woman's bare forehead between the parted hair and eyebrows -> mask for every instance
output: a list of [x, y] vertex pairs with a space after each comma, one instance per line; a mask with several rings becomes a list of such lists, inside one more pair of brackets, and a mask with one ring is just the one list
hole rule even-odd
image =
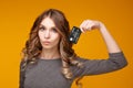
[[55, 26], [53, 20], [51, 18], [44, 18], [41, 23], [41, 25], [44, 25], [44, 26]]

